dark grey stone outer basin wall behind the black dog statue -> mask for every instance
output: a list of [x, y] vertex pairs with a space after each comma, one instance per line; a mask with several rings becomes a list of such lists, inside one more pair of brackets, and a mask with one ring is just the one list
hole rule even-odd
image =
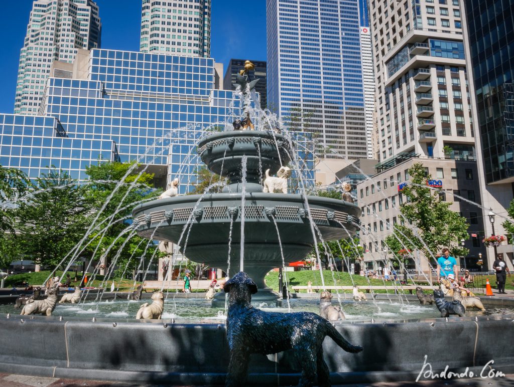
[[[511, 299], [482, 300], [486, 308], [500, 303], [514, 307]], [[21, 317], [28, 318], [22, 322]], [[513, 318], [504, 314], [453, 317], [448, 322], [442, 318], [337, 322], [337, 330], [364, 350], [348, 354], [326, 338], [324, 357], [334, 384], [415, 380], [425, 355], [434, 373], [448, 365], [451, 371], [469, 367], [479, 375], [494, 360], [492, 367], [508, 374], [514, 372]], [[0, 315], [0, 321], [0, 372], [132, 383], [224, 384], [229, 355], [223, 322], [59, 321], [57, 316], [13, 315]], [[458, 342], [459, 351], [447, 351], [448, 342]], [[300, 377], [290, 352], [252, 355], [248, 372], [249, 385], [294, 385]]]

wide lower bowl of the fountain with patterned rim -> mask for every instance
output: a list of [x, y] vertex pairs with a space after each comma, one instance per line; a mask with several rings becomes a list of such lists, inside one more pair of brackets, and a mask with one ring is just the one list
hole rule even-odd
[[[138, 235], [178, 244], [192, 261], [219, 268], [227, 267], [231, 235], [230, 272], [234, 273], [240, 269], [241, 193], [209, 194], [198, 201], [200, 197], [177, 196], [139, 205], [133, 210]], [[282, 260], [298, 261], [321, 240], [353, 236], [360, 208], [318, 196], [252, 192], [246, 193], [244, 212], [247, 270], [252, 265], [272, 268], [282, 266]]]

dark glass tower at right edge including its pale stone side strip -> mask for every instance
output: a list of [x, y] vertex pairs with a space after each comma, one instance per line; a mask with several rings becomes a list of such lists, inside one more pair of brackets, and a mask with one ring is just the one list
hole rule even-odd
[[[489, 222], [489, 211], [505, 214], [512, 200], [514, 182], [514, 1], [465, 3], [466, 59], [473, 81], [471, 101], [476, 103], [474, 120], [480, 136], [479, 176], [484, 197], [483, 216], [487, 236], [504, 235], [503, 219]], [[465, 26], [466, 28], [466, 26]], [[471, 77], [471, 72], [470, 72]], [[473, 103], [474, 105], [474, 103]], [[494, 220], [494, 217], [492, 217]], [[493, 233], [494, 230], [494, 233]], [[510, 239], [510, 238], [509, 238]], [[512, 243], [512, 242], [511, 242]], [[501, 245], [512, 270], [512, 245]], [[493, 249], [489, 249], [493, 254]], [[491, 258], [489, 261], [491, 261]]]

